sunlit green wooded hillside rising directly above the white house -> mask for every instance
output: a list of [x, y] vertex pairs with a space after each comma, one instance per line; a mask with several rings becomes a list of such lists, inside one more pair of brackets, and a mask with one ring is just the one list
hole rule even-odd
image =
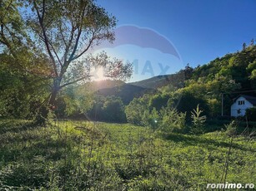
[[240, 84], [239, 90], [252, 90], [256, 86], [256, 46], [216, 58], [193, 70], [192, 81], [213, 81], [223, 76]]

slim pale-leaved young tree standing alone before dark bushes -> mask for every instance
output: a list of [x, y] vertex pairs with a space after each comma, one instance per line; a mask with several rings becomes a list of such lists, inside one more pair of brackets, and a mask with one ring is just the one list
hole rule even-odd
[[199, 105], [197, 105], [196, 110], [191, 111], [191, 119], [192, 119], [192, 127], [191, 133], [199, 134], [203, 132], [203, 126], [206, 121], [206, 116], [202, 115], [203, 110], [199, 109]]

